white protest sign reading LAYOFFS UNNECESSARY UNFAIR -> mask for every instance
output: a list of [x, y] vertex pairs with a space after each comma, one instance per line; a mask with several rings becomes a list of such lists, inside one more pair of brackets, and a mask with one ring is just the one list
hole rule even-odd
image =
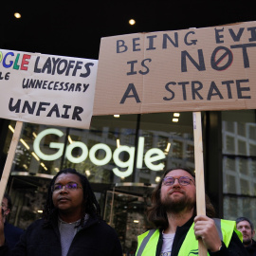
[[98, 61], [0, 49], [0, 117], [89, 128]]

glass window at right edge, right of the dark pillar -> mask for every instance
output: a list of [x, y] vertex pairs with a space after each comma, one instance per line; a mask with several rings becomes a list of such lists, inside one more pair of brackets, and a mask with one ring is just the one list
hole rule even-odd
[[254, 110], [222, 112], [223, 203], [226, 219], [247, 216], [256, 223], [255, 131]]

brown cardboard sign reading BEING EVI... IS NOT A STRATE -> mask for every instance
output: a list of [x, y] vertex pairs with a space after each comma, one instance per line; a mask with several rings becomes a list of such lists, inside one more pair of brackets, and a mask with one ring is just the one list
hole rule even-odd
[[101, 39], [93, 115], [256, 108], [256, 22]]

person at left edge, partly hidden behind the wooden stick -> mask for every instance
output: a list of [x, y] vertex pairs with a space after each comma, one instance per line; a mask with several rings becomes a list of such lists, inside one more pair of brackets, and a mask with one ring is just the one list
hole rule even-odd
[[13, 248], [20, 240], [20, 236], [22, 235], [24, 230], [14, 227], [13, 225], [9, 224], [9, 222], [7, 221], [7, 217], [12, 208], [11, 199], [7, 193], [4, 194], [1, 207], [2, 207], [3, 221], [5, 225], [5, 237], [9, 247]]

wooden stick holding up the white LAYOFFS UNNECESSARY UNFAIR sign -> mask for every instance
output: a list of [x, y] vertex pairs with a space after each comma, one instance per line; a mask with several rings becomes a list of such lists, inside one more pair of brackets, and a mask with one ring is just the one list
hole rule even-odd
[[0, 202], [2, 202], [3, 197], [4, 197], [4, 193], [6, 191], [6, 187], [7, 187], [7, 183], [8, 183], [8, 179], [9, 179], [9, 173], [10, 173], [12, 161], [13, 161], [13, 158], [14, 158], [14, 155], [15, 155], [15, 151], [16, 151], [16, 148], [17, 148], [17, 144], [19, 142], [19, 138], [20, 138], [20, 135], [21, 135], [22, 126], [23, 126], [22, 121], [17, 121], [16, 122], [14, 134], [12, 136], [10, 146], [9, 146], [8, 157], [7, 157], [5, 168], [4, 168], [2, 178], [1, 178], [1, 181], [0, 181]]

